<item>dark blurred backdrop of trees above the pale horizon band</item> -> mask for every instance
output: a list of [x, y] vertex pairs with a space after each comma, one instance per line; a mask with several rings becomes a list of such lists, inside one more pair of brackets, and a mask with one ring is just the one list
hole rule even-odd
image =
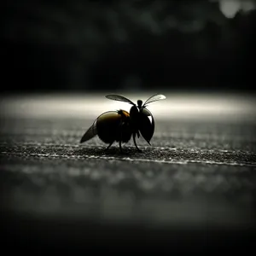
[[218, 1], [14, 1], [2, 90], [252, 90], [256, 12]]

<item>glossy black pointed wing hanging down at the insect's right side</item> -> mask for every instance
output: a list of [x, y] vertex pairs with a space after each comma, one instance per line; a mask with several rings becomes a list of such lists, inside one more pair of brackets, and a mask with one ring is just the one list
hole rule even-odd
[[150, 145], [150, 140], [154, 134], [154, 117], [147, 108], [143, 108], [140, 112], [138, 129], [143, 138]]

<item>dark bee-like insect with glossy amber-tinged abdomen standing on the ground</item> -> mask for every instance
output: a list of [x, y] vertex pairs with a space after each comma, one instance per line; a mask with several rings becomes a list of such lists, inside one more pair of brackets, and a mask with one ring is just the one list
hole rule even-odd
[[122, 152], [121, 143], [128, 143], [132, 136], [137, 151], [142, 152], [136, 143], [136, 136], [139, 138], [141, 134], [145, 141], [151, 145], [150, 140], [154, 135], [154, 117], [146, 107], [151, 102], [166, 99], [166, 96], [155, 94], [150, 96], [144, 104], [142, 100], [137, 100], [137, 105], [125, 96], [113, 94], [107, 95], [106, 98], [131, 104], [130, 112], [119, 109], [102, 113], [84, 133], [80, 143], [84, 143], [98, 135], [103, 143], [108, 143], [106, 149], [110, 148], [116, 141], [119, 143], [119, 148]]

